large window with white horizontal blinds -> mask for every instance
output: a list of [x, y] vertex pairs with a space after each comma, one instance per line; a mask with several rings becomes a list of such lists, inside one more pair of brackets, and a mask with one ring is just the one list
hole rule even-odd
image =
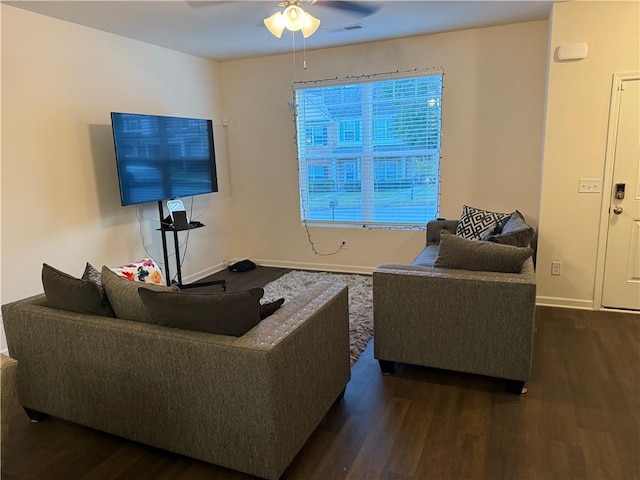
[[304, 222], [423, 227], [436, 218], [441, 72], [294, 90]]

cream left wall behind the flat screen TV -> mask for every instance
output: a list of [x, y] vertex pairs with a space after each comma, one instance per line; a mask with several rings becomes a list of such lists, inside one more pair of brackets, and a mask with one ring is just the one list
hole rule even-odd
[[220, 266], [231, 234], [218, 64], [0, 8], [2, 303], [42, 292], [43, 262], [80, 275], [87, 261], [162, 261], [157, 205], [120, 205], [111, 111], [214, 120], [221, 191], [195, 197], [207, 228], [191, 233], [184, 274]]

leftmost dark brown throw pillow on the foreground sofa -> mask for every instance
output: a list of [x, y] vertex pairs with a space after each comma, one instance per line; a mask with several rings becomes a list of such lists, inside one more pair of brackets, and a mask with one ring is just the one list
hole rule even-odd
[[51, 308], [89, 315], [114, 316], [102, 290], [92, 281], [75, 278], [44, 263], [42, 286], [47, 304]]

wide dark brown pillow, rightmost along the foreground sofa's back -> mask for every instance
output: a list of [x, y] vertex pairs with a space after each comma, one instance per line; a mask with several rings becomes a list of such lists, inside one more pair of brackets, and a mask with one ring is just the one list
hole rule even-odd
[[240, 337], [260, 321], [264, 289], [229, 293], [138, 292], [153, 323]]

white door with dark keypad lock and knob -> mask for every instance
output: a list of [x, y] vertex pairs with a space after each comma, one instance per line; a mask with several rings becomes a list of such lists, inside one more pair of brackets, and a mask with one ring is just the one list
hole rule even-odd
[[602, 306], [640, 310], [640, 79], [619, 95]]

